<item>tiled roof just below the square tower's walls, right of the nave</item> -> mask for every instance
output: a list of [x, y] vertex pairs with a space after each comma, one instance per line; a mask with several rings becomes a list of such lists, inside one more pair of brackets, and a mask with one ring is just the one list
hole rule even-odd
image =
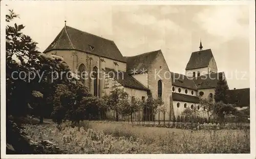
[[222, 75], [225, 76], [224, 72], [206, 74], [194, 77], [193, 81], [197, 85], [198, 89], [216, 88]]

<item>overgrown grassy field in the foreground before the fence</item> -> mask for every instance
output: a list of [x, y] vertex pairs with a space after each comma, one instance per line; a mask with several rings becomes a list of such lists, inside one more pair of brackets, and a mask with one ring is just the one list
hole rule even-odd
[[34, 141], [49, 140], [69, 153], [250, 153], [249, 130], [182, 130], [127, 123], [24, 125]]

